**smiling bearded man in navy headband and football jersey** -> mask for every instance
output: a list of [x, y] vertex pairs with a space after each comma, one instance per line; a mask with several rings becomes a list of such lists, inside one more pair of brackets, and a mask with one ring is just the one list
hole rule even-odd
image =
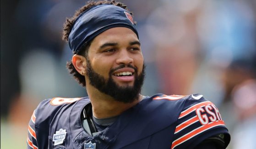
[[68, 19], [70, 73], [85, 98], [46, 99], [28, 127], [28, 149], [224, 149], [230, 136], [202, 95], [140, 94], [144, 62], [126, 6], [90, 2]]

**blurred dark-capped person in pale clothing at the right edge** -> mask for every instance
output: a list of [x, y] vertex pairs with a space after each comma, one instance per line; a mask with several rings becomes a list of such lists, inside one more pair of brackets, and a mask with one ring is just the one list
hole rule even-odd
[[[256, 57], [233, 61], [223, 77], [225, 100], [221, 108], [232, 149], [256, 148]], [[243, 136], [241, 138], [241, 136]]]

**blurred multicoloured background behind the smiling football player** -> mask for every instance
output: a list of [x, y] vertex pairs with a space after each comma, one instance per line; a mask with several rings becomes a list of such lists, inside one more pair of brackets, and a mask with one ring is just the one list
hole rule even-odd
[[[219, 108], [228, 149], [256, 149], [256, 0], [121, 0], [135, 14], [146, 81], [142, 93], [201, 93]], [[66, 17], [85, 0], [1, 0], [1, 149], [25, 149], [45, 98], [83, 97], [65, 69]]]

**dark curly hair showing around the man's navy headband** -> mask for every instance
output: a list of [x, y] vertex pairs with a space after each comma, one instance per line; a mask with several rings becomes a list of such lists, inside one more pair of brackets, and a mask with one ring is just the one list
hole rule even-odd
[[[63, 26], [63, 36], [62, 36], [62, 39], [66, 42], [68, 42], [68, 36], [71, 32], [71, 29], [72, 29], [72, 26], [74, 24], [74, 21], [76, 20], [76, 18], [82, 14], [85, 10], [88, 10], [89, 8], [95, 6], [95, 5], [101, 5], [101, 4], [111, 4], [111, 5], [115, 5], [115, 6], [119, 6], [127, 11], [128, 8], [126, 7], [126, 5], [120, 3], [120, 2], [115, 2], [115, 0], [112, 0], [112, 1], [108, 1], [108, 0], [101, 0], [101, 1], [89, 1], [87, 3], [87, 5], [84, 5], [82, 6], [79, 10], [76, 10], [76, 13], [73, 17], [71, 18], [67, 18], [65, 23], [64, 23], [64, 26]], [[130, 12], [130, 11], [129, 11]], [[131, 15], [133, 15], [131, 12], [130, 12]], [[92, 40], [93, 41], [93, 40]], [[87, 53], [88, 53], [88, 49], [91, 45], [91, 42], [88, 42], [87, 44], [84, 44], [80, 50], [80, 52], [78, 53], [73, 53], [73, 54], [78, 54], [78, 55], [81, 55], [81, 56], [84, 56], [87, 58]], [[67, 62], [66, 63], [66, 68], [68, 69], [68, 72], [76, 79], [76, 81], [81, 84], [83, 87], [86, 86], [86, 83], [85, 83], [85, 77], [82, 76], [79, 72], [76, 71], [72, 61], [70, 62]]]

